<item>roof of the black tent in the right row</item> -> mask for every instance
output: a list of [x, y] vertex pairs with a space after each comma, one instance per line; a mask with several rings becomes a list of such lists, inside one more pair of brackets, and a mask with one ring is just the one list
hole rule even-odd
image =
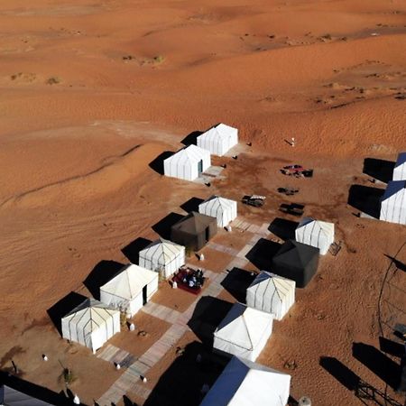
[[319, 252], [320, 250], [315, 246], [288, 240], [281, 246], [273, 257], [273, 260], [278, 263], [286, 263], [287, 265], [294, 266], [299, 265], [305, 268], [314, 256], [318, 256]]

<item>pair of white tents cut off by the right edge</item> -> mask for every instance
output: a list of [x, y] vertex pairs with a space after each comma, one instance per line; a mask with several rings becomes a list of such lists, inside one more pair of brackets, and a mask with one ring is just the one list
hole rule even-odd
[[406, 152], [401, 152], [381, 199], [379, 219], [406, 225]]

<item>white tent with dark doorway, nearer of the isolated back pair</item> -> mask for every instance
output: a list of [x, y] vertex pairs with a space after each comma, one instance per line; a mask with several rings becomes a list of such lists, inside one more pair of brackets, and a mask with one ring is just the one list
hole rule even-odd
[[210, 165], [210, 152], [189, 145], [163, 161], [163, 173], [171, 178], [195, 180]]

